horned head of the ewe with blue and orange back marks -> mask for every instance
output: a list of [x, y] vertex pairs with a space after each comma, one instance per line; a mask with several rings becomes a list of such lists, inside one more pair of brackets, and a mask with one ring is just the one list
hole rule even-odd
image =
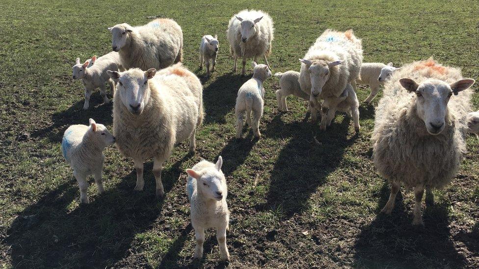
[[[342, 64], [344, 61], [334, 61], [328, 62], [326, 60], [307, 60], [307, 59], [299, 59], [301, 63], [305, 65], [306, 72], [309, 73], [311, 78], [311, 95], [313, 97], [318, 97], [322, 92], [322, 87], [329, 79], [331, 75], [331, 70], [337, 66]], [[301, 65], [301, 70], [303, 70], [303, 66]]]

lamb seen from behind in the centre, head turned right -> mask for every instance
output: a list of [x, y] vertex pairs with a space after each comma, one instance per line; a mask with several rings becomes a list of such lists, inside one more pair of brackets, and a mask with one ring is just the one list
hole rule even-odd
[[[267, 65], [259, 65], [256, 62], [252, 62], [251, 64], [253, 66], [253, 77], [239, 88], [238, 97], [236, 98], [236, 138], [241, 137], [245, 111], [246, 123], [252, 127], [255, 137], [261, 137], [259, 125], [260, 119], [263, 116], [265, 102], [263, 82], [265, 82], [268, 77], [271, 77], [272, 73]], [[251, 112], [253, 112], [253, 122], [251, 122]]]

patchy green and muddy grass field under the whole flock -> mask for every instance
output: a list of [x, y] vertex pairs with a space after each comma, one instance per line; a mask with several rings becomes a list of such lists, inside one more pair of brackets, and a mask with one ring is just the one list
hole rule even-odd
[[[230, 73], [225, 31], [244, 8], [267, 11], [275, 24], [273, 72], [299, 70], [298, 58], [326, 28], [353, 28], [365, 62], [402, 65], [434, 56], [479, 78], [475, 1], [93, 1], [2, 0], [0, 9], [0, 266], [3, 268], [223, 267], [212, 231], [205, 258], [195, 245], [185, 193], [186, 168], [223, 156], [231, 210], [227, 245], [231, 268], [479, 268], [479, 143], [452, 184], [423, 206], [424, 228], [411, 225], [413, 199], [402, 190], [392, 216], [380, 209], [389, 186], [371, 160], [374, 105], [361, 104], [361, 133], [338, 115], [319, 131], [304, 101], [290, 97], [289, 113], [276, 109], [276, 78], [266, 84], [260, 130], [234, 139], [234, 103], [248, 79]], [[105, 151], [106, 194], [79, 204], [79, 189], [60, 141], [71, 124], [88, 118], [111, 130], [111, 104], [98, 91], [83, 111], [83, 89], [71, 78], [75, 58], [111, 47], [106, 27], [145, 24], [151, 16], [176, 20], [184, 33], [184, 63], [204, 82], [206, 118], [197, 152], [187, 143], [163, 169], [164, 200], [155, 199], [152, 162], [145, 191], [133, 192], [133, 161], [115, 147]], [[198, 70], [204, 34], [218, 34], [217, 71]], [[251, 75], [250, 71], [247, 73]], [[474, 90], [478, 85], [473, 86]], [[364, 100], [369, 89], [362, 86]], [[479, 108], [478, 95], [473, 99]], [[249, 131], [249, 130], [248, 130]], [[316, 137], [316, 140], [315, 138]]]

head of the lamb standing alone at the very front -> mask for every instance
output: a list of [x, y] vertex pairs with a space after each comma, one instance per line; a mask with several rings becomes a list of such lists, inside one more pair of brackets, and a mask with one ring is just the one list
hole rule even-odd
[[221, 171], [223, 159], [218, 157], [214, 168], [205, 168], [201, 171], [186, 169], [186, 173], [196, 179], [196, 190], [207, 199], [221, 201], [226, 198], [226, 188], [223, 184], [225, 177]]

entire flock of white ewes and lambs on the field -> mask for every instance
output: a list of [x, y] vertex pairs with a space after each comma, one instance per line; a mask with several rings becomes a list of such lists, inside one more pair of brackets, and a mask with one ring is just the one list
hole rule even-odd
[[[204, 117], [203, 86], [194, 73], [181, 65], [183, 33], [176, 22], [157, 19], [141, 26], [117, 24], [108, 29], [113, 52], [99, 58], [94, 56], [84, 63], [77, 58], [73, 78], [83, 82], [84, 109], [89, 107], [95, 88], [100, 88], [108, 103], [105, 85], [109, 83], [114, 100], [113, 135], [92, 119], [89, 126], [72, 125], [63, 136], [63, 155], [79, 183], [82, 203], [88, 202], [89, 174], [94, 175], [98, 192], [104, 192], [103, 150], [112, 144], [125, 157], [133, 159], [137, 191], [144, 187], [143, 162], [154, 158], [156, 195], [162, 197], [161, 169], [174, 146], [189, 138], [189, 150], [195, 150], [195, 132]], [[238, 92], [237, 138], [241, 137], [244, 116], [254, 135], [260, 137], [263, 82], [272, 75], [266, 57], [271, 52], [273, 30], [272, 19], [255, 10], [239, 12], [228, 24], [233, 72], [239, 58], [242, 75], [247, 59], [254, 59], [253, 76]], [[217, 36], [205, 35], [201, 39], [200, 68], [206, 65], [207, 76], [214, 72], [218, 47]], [[257, 64], [258, 57], [263, 57], [266, 64]], [[313, 122], [318, 112], [321, 115], [321, 130], [331, 124], [339, 110], [353, 119], [355, 131], [359, 132], [356, 83], [371, 86], [366, 102], [384, 84], [372, 135], [375, 167], [391, 183], [391, 195], [382, 212], [391, 213], [404, 184], [415, 192], [413, 224], [423, 224], [424, 190], [430, 192], [452, 180], [466, 151], [467, 132], [479, 133], [479, 112], [469, 113], [473, 93], [470, 87], [475, 80], [464, 79], [459, 69], [442, 66], [433, 59], [400, 68], [392, 63], [363, 63], [362, 43], [352, 30], [325, 30], [299, 61], [300, 72], [275, 74], [281, 86], [276, 91], [278, 110], [288, 110], [286, 97], [290, 95], [308, 100]], [[186, 193], [197, 243], [195, 258], [203, 256], [205, 229], [215, 228], [221, 259], [229, 259], [226, 246], [229, 211], [222, 162], [219, 156], [216, 164], [203, 160], [186, 170]]]

